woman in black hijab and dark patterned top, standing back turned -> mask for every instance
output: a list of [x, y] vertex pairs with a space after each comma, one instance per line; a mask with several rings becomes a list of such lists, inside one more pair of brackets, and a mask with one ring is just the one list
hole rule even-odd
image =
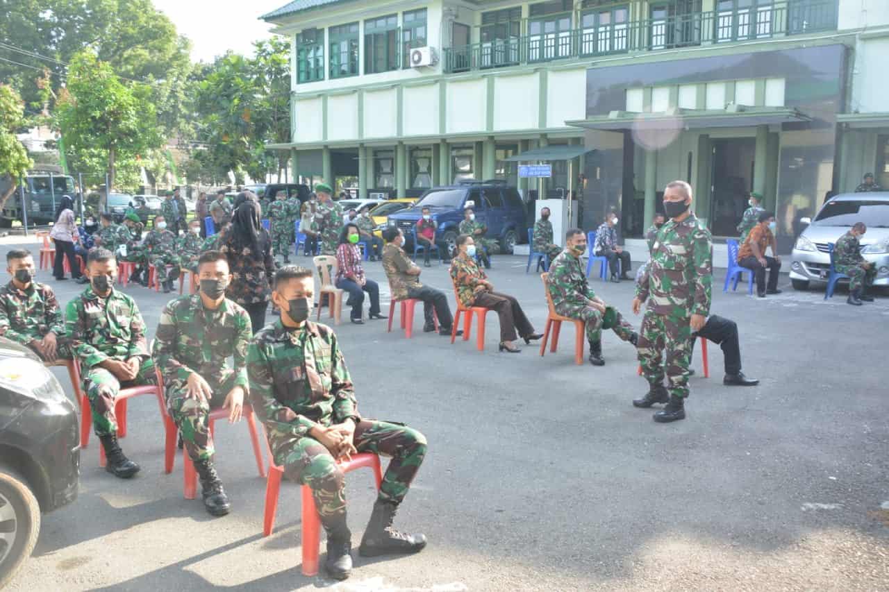
[[275, 274], [271, 240], [260, 224], [259, 204], [242, 200], [231, 225], [220, 233], [219, 250], [225, 253], [231, 269], [226, 297], [244, 307], [256, 333], [266, 324], [270, 280]]

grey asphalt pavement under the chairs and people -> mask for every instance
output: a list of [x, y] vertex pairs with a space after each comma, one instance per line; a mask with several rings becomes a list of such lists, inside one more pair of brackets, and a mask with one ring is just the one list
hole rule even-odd
[[[8, 237], [0, 252], [24, 240]], [[495, 257], [490, 278], [542, 332], [541, 279], [525, 274], [525, 261]], [[388, 314], [380, 263], [366, 271], [380, 282]], [[472, 340], [453, 345], [423, 333], [419, 310], [412, 340], [397, 319], [391, 333], [379, 320], [337, 327], [364, 416], [407, 422], [428, 438], [396, 516], [396, 526], [428, 536], [420, 555], [355, 553], [346, 582], [303, 577], [299, 487], [284, 484], [276, 531], [263, 538], [265, 480], [244, 422], [217, 426], [216, 463], [233, 511], [212, 518], [199, 499], [183, 499], [181, 455], [164, 475], [156, 403], [137, 397], [122, 444], [141, 473], [130, 481], [108, 475], [92, 436], [78, 500], [44, 516], [34, 556], [10, 589], [889, 589], [889, 297], [854, 308], [844, 288], [825, 301], [823, 290], [794, 292], [784, 276], [783, 293], [757, 299], [741, 288], [723, 293], [722, 274], [712, 312], [738, 323], [743, 370], [761, 382], [723, 386], [723, 357], [712, 343], [704, 378], [698, 347], [688, 418], [667, 425], [630, 404], [646, 384], [635, 351], [613, 332], [605, 333], [605, 366], [593, 367], [573, 364], [571, 326], [544, 357], [524, 344], [519, 355], [498, 353], [494, 314], [483, 352], [475, 328]], [[420, 277], [444, 289], [453, 307], [444, 266]], [[80, 289], [47, 271], [38, 280], [62, 303]], [[590, 281], [638, 326], [630, 282]], [[152, 336], [169, 296], [132, 284], [125, 292]], [[70, 390], [64, 369], [58, 376]], [[347, 482], [357, 547], [372, 478], [357, 471]]]

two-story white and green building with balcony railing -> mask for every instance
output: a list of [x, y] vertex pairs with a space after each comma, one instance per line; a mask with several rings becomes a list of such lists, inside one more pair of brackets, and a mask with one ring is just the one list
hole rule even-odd
[[[684, 179], [717, 236], [763, 193], [783, 247], [830, 191], [889, 185], [885, 0], [295, 0], [262, 18], [292, 42], [292, 142], [271, 148], [361, 196], [573, 187], [584, 228], [613, 210], [638, 236]], [[545, 184], [509, 160], [565, 144], [588, 152]]]

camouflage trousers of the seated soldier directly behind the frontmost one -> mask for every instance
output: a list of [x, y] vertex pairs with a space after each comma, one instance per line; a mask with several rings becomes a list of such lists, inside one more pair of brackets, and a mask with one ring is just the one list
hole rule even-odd
[[186, 396], [188, 387], [186, 381], [179, 378], [175, 380], [164, 379], [166, 388], [167, 409], [170, 417], [176, 422], [182, 442], [191, 460], [210, 459], [213, 455], [213, 439], [210, 436], [210, 412], [219, 409], [225, 403], [228, 392], [235, 388], [235, 372], [227, 372], [221, 380], [204, 380], [210, 384], [213, 396], [209, 401], [204, 401]]

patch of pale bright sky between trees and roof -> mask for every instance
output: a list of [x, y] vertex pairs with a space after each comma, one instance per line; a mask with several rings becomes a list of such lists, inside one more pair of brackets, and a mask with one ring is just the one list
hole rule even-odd
[[227, 50], [249, 54], [252, 43], [271, 36], [260, 16], [288, 0], [154, 0], [180, 35], [191, 40], [191, 59], [212, 61]]

